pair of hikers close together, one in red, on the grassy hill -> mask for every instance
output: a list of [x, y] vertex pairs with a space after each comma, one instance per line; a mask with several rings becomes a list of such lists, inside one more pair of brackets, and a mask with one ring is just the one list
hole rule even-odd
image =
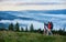
[[53, 23], [44, 23], [44, 34], [52, 35]]

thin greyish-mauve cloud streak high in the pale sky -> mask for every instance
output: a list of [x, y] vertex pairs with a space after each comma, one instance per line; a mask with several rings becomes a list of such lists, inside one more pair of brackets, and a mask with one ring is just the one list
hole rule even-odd
[[56, 2], [44, 2], [44, 3], [15, 3], [15, 6], [46, 6], [46, 4], [65, 4]]

